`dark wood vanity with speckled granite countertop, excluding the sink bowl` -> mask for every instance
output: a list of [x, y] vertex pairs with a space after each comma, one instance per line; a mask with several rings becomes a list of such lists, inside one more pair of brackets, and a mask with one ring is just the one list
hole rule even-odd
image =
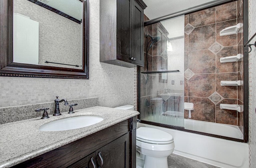
[[[137, 111], [96, 106], [75, 112], [0, 125], [0, 168], [136, 167]], [[81, 115], [97, 115], [104, 120], [73, 130], [39, 130], [51, 121]]]

